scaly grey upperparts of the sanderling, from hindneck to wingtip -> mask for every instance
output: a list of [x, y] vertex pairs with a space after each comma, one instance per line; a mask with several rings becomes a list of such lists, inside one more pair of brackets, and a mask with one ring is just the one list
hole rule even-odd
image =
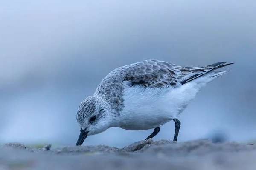
[[99, 84], [94, 94], [105, 96], [107, 100], [118, 98], [122, 101], [124, 83], [129, 86], [141, 85], [145, 88], [178, 87], [210, 71], [230, 65], [224, 65], [225, 63], [218, 62], [202, 67], [181, 67], [159, 60], [145, 60], [111, 71]]

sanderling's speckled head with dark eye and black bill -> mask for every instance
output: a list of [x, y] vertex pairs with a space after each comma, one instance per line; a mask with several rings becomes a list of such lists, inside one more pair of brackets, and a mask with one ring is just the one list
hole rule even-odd
[[102, 133], [115, 123], [114, 109], [99, 96], [89, 96], [80, 104], [76, 120], [80, 126], [79, 139], [76, 145], [82, 145], [90, 135]]

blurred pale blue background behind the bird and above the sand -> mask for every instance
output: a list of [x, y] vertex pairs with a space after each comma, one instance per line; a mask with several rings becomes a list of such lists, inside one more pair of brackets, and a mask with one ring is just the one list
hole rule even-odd
[[[114, 68], [145, 59], [228, 61], [180, 115], [179, 141], [223, 130], [256, 139], [256, 1], [0, 1], [0, 142], [75, 145], [76, 111]], [[84, 145], [125, 147], [153, 130], [111, 128]], [[174, 122], [154, 140], [173, 139]]]

